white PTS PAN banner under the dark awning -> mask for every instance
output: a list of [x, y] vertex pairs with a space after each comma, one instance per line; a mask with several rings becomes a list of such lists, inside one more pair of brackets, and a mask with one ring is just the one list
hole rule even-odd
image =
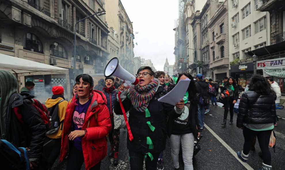
[[257, 61], [257, 69], [284, 68], [285, 58]]

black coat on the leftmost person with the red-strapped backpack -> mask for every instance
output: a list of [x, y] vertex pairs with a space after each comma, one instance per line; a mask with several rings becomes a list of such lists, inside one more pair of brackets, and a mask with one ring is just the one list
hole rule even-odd
[[[37, 109], [27, 98], [28, 93], [14, 93], [7, 109], [7, 139], [17, 147], [31, 149], [29, 158], [40, 158], [45, 140], [46, 127]], [[24, 124], [18, 121], [12, 108], [19, 107]]]

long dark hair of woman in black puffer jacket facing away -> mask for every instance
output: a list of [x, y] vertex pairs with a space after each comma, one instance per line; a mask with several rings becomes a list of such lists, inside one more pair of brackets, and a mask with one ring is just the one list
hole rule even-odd
[[261, 95], [268, 95], [269, 93], [276, 95], [276, 93], [271, 89], [267, 79], [261, 75], [252, 76], [248, 83], [248, 87], [250, 91], [255, 91]]

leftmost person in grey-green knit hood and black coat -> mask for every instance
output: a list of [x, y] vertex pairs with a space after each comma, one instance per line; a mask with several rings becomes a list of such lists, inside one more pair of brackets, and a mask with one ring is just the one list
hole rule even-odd
[[[46, 127], [38, 110], [29, 99], [28, 93], [17, 93], [16, 77], [0, 70], [0, 139], [5, 139], [17, 147], [29, 148], [31, 169], [44, 169], [40, 165], [45, 140]], [[22, 115], [17, 118], [13, 108], [18, 107]]]

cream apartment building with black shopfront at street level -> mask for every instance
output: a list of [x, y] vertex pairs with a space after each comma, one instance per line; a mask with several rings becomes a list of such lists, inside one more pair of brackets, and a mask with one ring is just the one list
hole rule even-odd
[[260, 0], [228, 0], [230, 76], [242, 87], [254, 66], [248, 51], [270, 45], [269, 12], [259, 10]]

